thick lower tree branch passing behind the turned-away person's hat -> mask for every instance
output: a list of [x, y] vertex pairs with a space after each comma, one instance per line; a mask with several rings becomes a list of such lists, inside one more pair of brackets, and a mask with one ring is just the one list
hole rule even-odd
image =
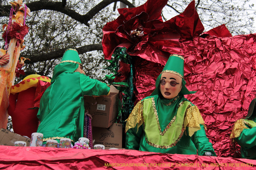
[[[40, 54], [33, 54], [33, 55], [23, 55], [20, 54], [20, 57], [25, 57], [30, 59], [30, 61], [26, 60], [25, 63], [36, 63], [40, 61], [46, 61], [46, 60], [52, 60], [56, 58], [61, 58], [66, 51], [67, 48], [58, 49], [55, 51], [51, 51], [48, 53], [40, 53]], [[83, 47], [75, 48], [78, 51], [78, 54], [84, 54], [89, 51], [94, 50], [103, 50], [101, 44], [91, 44], [91, 45], [85, 45]]]

